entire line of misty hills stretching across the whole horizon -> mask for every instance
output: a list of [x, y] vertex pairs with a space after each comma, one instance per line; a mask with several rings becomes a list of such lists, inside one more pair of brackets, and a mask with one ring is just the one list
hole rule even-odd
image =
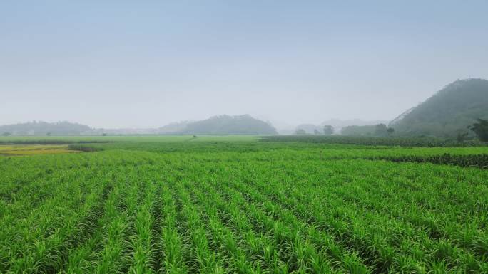
[[[325, 125], [334, 127], [334, 134], [358, 134], [377, 131], [374, 125], [392, 127], [397, 136], [454, 137], [459, 132], [474, 136], [467, 129], [478, 118], [488, 119], [488, 80], [457, 80], [439, 90], [420, 105], [402, 112], [391, 122], [386, 120], [325, 120], [319, 125], [302, 124], [280, 134], [293, 134], [305, 130], [322, 133]], [[382, 126], [385, 127], [385, 126]], [[345, 130], [342, 130], [345, 129]], [[381, 130], [381, 129], [380, 129]], [[386, 129], [384, 129], [386, 130]], [[72, 122], [25, 122], [0, 126], [0, 135], [275, 135], [275, 127], [269, 122], [250, 115], [220, 115], [205, 120], [175, 122], [164, 127], [148, 129], [103, 129], [91, 128]], [[361, 133], [362, 134], [362, 133]]]

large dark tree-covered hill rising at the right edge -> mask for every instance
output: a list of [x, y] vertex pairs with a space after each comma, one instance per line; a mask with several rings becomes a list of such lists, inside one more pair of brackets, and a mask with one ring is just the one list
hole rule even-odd
[[[488, 118], [488, 80], [457, 80], [390, 122], [395, 134], [453, 137]], [[472, 134], [472, 132], [469, 132]]]

